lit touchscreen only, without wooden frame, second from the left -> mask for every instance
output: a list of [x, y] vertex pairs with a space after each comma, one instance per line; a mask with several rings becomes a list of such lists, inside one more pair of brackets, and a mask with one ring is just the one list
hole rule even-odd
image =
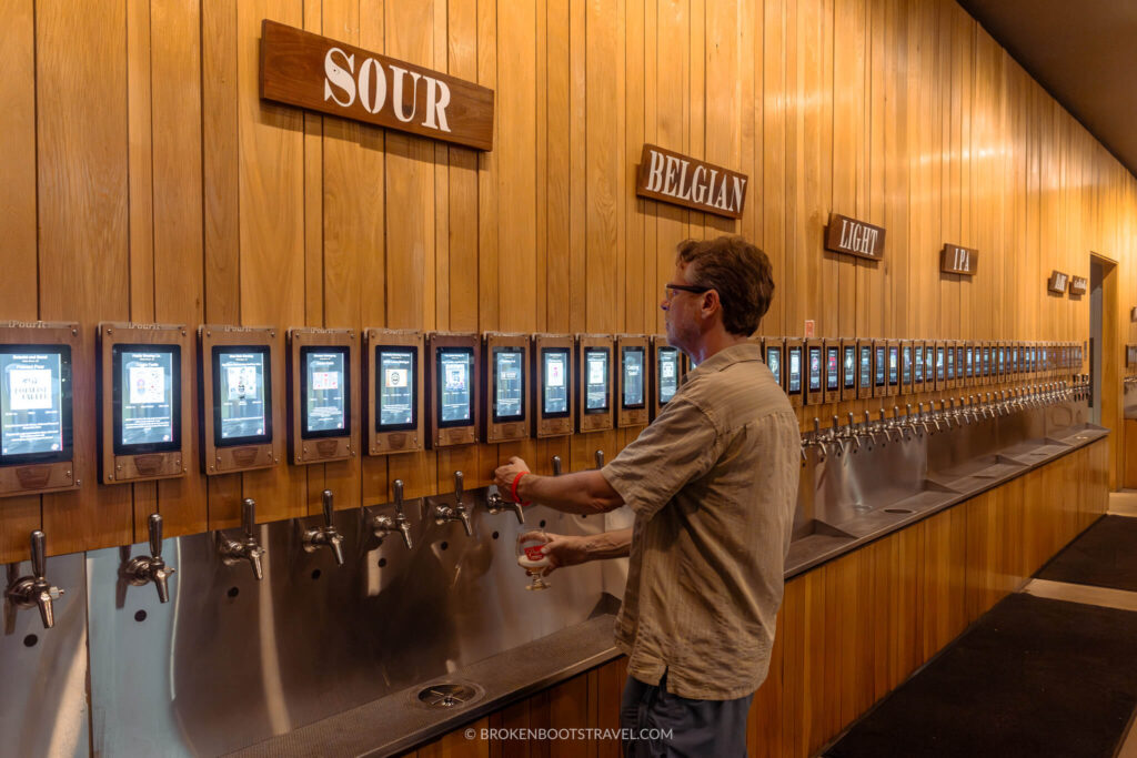
[[181, 347], [111, 348], [114, 440], [117, 455], [181, 447]]

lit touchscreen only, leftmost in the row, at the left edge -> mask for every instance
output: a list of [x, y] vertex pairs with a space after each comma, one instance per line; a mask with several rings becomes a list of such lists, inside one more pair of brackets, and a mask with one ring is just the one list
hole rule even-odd
[[0, 461], [68, 460], [70, 348], [0, 347]]

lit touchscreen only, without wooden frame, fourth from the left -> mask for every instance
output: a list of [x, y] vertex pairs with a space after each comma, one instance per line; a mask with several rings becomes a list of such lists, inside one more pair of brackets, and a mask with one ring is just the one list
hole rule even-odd
[[300, 436], [351, 433], [347, 348], [300, 348]]

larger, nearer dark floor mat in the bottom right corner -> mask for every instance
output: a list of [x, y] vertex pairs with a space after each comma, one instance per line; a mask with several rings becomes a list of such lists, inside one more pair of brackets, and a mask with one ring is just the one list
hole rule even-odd
[[1110, 758], [1137, 706], [1137, 613], [1005, 598], [824, 755]]

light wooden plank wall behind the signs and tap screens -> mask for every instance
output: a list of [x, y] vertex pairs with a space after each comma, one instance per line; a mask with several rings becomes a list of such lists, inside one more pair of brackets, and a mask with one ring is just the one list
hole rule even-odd
[[[823, 336], [1080, 340], [1088, 298], [1043, 280], [1087, 274], [1093, 251], [1117, 264], [1103, 405], [1119, 427], [1137, 181], [951, 0], [99, 0], [82, 20], [6, 0], [0, 18], [0, 318], [78, 319], [89, 347], [110, 318], [658, 333], [674, 244], [740, 232], [773, 266], [764, 334], [812, 319]], [[263, 18], [492, 88], [495, 150], [262, 102]], [[748, 173], [742, 219], [637, 198], [645, 141]], [[821, 250], [835, 210], [886, 226], [883, 261]], [[945, 241], [979, 248], [974, 278], [939, 274]], [[459, 468], [484, 483], [509, 455], [579, 469], [634, 434], [209, 481], [193, 460], [184, 481], [128, 488], [88, 466], [42, 518], [39, 498], [3, 503], [0, 559], [40, 524], [53, 552], [102, 547], [156, 508], [171, 534], [235, 524], [244, 495], [285, 518], [325, 486], [349, 508], [393, 478], [415, 495]], [[905, 551], [948, 539], [926, 538]]]

